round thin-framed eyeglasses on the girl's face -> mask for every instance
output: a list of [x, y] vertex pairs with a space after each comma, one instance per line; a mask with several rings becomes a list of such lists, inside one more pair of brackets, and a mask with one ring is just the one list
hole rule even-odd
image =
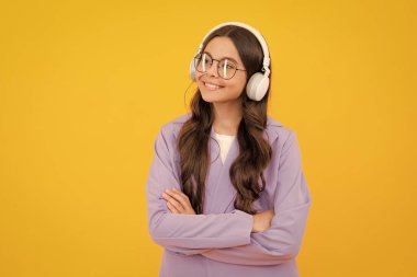
[[223, 58], [221, 60], [213, 59], [212, 56], [210, 56], [208, 53], [202, 53], [198, 54], [194, 57], [194, 67], [196, 71], [199, 72], [207, 72], [207, 70], [212, 67], [213, 60], [216, 60], [218, 62], [217, 65], [217, 73], [223, 79], [232, 79], [237, 70], [246, 71], [245, 69], [237, 68], [237, 65], [235, 61], [233, 61], [229, 58]]

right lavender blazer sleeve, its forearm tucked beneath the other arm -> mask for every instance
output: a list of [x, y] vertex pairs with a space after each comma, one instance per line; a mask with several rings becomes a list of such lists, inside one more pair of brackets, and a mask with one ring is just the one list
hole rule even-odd
[[298, 142], [292, 131], [282, 148], [271, 227], [250, 234], [250, 243], [214, 249], [202, 255], [240, 265], [277, 265], [294, 258], [301, 249], [312, 204], [305, 181]]

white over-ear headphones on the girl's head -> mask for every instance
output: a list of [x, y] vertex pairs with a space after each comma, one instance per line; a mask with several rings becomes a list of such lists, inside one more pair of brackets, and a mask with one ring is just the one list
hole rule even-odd
[[[249, 26], [248, 24], [240, 23], [240, 22], [222, 23], [222, 24], [215, 26], [214, 28], [212, 28], [204, 36], [203, 42], [200, 44], [200, 47], [199, 47], [196, 54], [194, 55], [194, 57], [203, 50], [203, 43], [207, 38], [207, 36], [211, 33], [213, 33], [214, 31], [216, 31], [217, 28], [221, 28], [221, 27], [226, 26], [226, 25], [240, 26], [240, 27], [244, 27], [244, 28], [250, 31], [258, 38], [258, 42], [260, 43], [260, 45], [262, 47], [263, 67], [261, 70], [263, 73], [262, 72], [253, 73], [250, 77], [248, 83], [246, 84], [246, 93], [247, 93], [248, 97], [253, 100], [253, 101], [260, 101], [264, 96], [264, 94], [267, 94], [267, 91], [269, 88], [269, 73], [270, 73], [269, 62], [270, 62], [270, 58], [269, 58], [269, 50], [268, 50], [267, 42], [264, 41], [262, 35], [256, 28]], [[190, 79], [192, 81], [195, 81], [194, 57], [191, 59], [191, 62], [190, 62]]]

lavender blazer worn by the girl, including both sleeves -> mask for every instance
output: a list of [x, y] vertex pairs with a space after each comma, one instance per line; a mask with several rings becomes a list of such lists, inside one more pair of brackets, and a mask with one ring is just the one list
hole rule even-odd
[[145, 186], [148, 231], [164, 247], [159, 277], [298, 276], [295, 257], [312, 199], [295, 131], [268, 116], [264, 138], [273, 155], [263, 172], [266, 191], [252, 207], [258, 211], [274, 209], [275, 216], [268, 230], [251, 233], [253, 218], [235, 209], [236, 189], [228, 175], [239, 153], [237, 137], [223, 163], [213, 127], [204, 213], [179, 215], [167, 208], [162, 192], [181, 189], [176, 140], [190, 116], [181, 115], [160, 128]]

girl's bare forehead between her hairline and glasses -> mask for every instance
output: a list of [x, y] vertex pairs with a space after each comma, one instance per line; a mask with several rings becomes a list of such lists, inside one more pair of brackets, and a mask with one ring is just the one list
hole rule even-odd
[[225, 57], [235, 59], [238, 64], [243, 64], [236, 46], [232, 39], [226, 36], [216, 36], [205, 46], [204, 51], [208, 53], [215, 59]]

